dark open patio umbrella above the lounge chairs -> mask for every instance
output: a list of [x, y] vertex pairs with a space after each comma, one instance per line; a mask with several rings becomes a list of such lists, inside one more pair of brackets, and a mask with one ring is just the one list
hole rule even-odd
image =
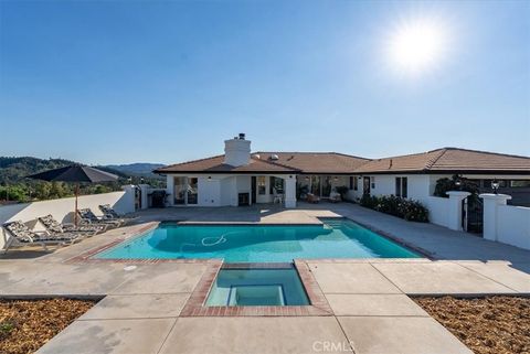
[[77, 197], [80, 195], [80, 183], [97, 183], [116, 181], [118, 176], [98, 169], [87, 165], [68, 165], [65, 168], [54, 169], [28, 175], [33, 180], [43, 180], [49, 182], [74, 182], [75, 183], [75, 210], [74, 223], [77, 225]]

